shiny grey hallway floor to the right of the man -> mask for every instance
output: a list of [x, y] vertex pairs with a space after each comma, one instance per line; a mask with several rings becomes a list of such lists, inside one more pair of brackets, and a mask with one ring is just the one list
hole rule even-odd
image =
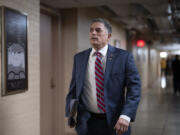
[[172, 77], [159, 78], [151, 88], [142, 90], [132, 135], [179, 135], [179, 132], [180, 96], [173, 94]]

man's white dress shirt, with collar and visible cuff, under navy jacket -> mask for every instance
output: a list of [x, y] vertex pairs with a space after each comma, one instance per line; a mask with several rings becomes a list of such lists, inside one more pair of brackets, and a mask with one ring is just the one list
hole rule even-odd
[[[98, 52], [102, 54], [102, 66], [103, 71], [105, 72], [106, 68], [106, 58], [107, 58], [108, 45], [105, 45]], [[101, 113], [97, 107], [97, 97], [96, 97], [96, 82], [95, 82], [95, 61], [96, 61], [96, 50], [92, 48], [92, 51], [89, 56], [83, 93], [82, 101], [85, 104], [88, 111], [93, 113]], [[126, 115], [121, 115], [120, 118], [124, 118], [130, 122], [130, 118]]]

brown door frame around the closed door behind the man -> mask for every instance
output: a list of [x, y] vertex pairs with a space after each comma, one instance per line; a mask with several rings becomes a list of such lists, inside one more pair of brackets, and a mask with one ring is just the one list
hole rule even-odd
[[[61, 44], [61, 14], [58, 10], [50, 8], [44, 4], [40, 4], [40, 13], [48, 15], [52, 19], [52, 65], [53, 67], [53, 80], [51, 87], [53, 88], [53, 110], [52, 110], [52, 135], [64, 134], [64, 66], [63, 66], [63, 47]], [[40, 50], [41, 53], [41, 50]], [[40, 59], [41, 60], [41, 59]], [[41, 85], [40, 85], [41, 86]], [[40, 88], [40, 91], [41, 88]], [[43, 103], [40, 103], [40, 106]], [[41, 115], [40, 110], [40, 115]], [[40, 116], [40, 134], [42, 135], [43, 123]]]

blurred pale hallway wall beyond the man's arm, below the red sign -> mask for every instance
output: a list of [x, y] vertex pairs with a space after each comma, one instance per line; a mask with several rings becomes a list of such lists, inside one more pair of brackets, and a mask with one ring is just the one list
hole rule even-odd
[[152, 49], [148, 44], [146, 44], [143, 48], [133, 46], [132, 53], [141, 77], [142, 90], [144, 88], [151, 87], [151, 85], [157, 81], [157, 78], [159, 77], [158, 51]]

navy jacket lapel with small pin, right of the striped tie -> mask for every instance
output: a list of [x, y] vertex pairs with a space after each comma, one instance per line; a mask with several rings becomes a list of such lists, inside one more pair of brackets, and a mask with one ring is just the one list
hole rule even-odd
[[109, 75], [111, 73], [111, 68], [115, 58], [115, 48], [111, 45], [108, 45], [107, 51], [107, 59], [106, 59], [106, 69], [105, 69], [105, 76], [104, 76], [104, 86], [106, 87]]

